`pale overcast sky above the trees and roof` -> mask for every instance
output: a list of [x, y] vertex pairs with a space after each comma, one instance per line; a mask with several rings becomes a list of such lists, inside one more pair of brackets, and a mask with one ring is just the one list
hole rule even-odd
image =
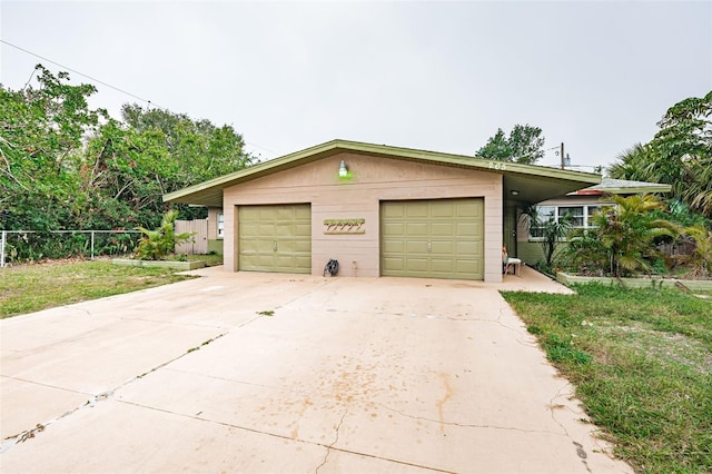
[[4, 88], [72, 69], [123, 91], [70, 72], [91, 107], [231, 125], [263, 160], [336, 138], [474, 155], [528, 124], [541, 165], [564, 142], [593, 171], [712, 90], [711, 1], [2, 0], [0, 39]]

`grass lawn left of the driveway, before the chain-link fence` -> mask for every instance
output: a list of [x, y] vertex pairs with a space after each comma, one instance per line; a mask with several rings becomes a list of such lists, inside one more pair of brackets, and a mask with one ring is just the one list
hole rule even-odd
[[[220, 265], [221, 256], [189, 256]], [[110, 260], [48, 261], [0, 268], [0, 318], [187, 279], [168, 268], [111, 265]]]

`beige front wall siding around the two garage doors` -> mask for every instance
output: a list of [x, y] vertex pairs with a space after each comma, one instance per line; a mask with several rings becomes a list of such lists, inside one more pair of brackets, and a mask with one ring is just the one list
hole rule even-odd
[[[350, 179], [339, 180], [346, 161]], [[312, 204], [312, 274], [329, 258], [340, 276], [380, 275], [383, 200], [484, 198], [485, 282], [502, 280], [502, 176], [392, 158], [340, 154], [225, 189], [225, 268], [237, 269], [237, 208], [256, 204]], [[365, 219], [363, 234], [325, 234], [325, 219]], [[231, 244], [229, 244], [231, 243]]]

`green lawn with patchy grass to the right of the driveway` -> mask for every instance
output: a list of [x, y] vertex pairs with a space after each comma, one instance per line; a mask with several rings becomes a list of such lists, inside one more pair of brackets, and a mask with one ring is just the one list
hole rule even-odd
[[503, 293], [636, 472], [712, 472], [712, 299], [582, 285]]

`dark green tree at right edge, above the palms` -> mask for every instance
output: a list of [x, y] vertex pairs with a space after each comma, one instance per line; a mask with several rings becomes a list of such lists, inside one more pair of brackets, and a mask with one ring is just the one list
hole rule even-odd
[[712, 91], [672, 106], [646, 145], [621, 154], [609, 168], [612, 178], [664, 182], [672, 197], [712, 217]]

